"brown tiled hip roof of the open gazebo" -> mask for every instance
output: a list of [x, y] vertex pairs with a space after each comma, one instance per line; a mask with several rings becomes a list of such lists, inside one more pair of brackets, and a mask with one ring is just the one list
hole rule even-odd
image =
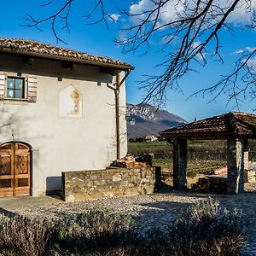
[[256, 137], [256, 115], [230, 112], [160, 131], [161, 137], [183, 139], [225, 139]]

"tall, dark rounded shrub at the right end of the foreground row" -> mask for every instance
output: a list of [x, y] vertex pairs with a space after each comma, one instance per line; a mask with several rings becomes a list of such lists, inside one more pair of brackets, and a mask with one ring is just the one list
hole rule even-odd
[[241, 212], [200, 201], [183, 212], [170, 229], [173, 255], [236, 255], [244, 244]]

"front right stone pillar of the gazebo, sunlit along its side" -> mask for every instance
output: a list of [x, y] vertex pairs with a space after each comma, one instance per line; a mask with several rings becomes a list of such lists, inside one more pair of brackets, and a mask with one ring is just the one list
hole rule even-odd
[[244, 169], [247, 167], [247, 140], [228, 139], [227, 140], [227, 160], [228, 160], [228, 194], [238, 194], [243, 192]]

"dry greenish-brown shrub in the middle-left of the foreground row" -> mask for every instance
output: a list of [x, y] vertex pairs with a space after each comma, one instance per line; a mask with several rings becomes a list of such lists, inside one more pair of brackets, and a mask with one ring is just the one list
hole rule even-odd
[[[84, 253], [118, 251], [129, 247], [136, 239], [130, 216], [110, 210], [90, 210], [90, 212], [66, 215], [56, 228], [56, 247], [62, 252]], [[117, 254], [118, 255], [118, 254]]]

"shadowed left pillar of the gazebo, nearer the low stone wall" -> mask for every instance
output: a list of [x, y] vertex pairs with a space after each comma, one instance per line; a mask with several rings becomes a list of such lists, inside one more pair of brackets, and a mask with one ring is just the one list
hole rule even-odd
[[173, 143], [173, 188], [187, 188], [187, 141], [177, 139]]

